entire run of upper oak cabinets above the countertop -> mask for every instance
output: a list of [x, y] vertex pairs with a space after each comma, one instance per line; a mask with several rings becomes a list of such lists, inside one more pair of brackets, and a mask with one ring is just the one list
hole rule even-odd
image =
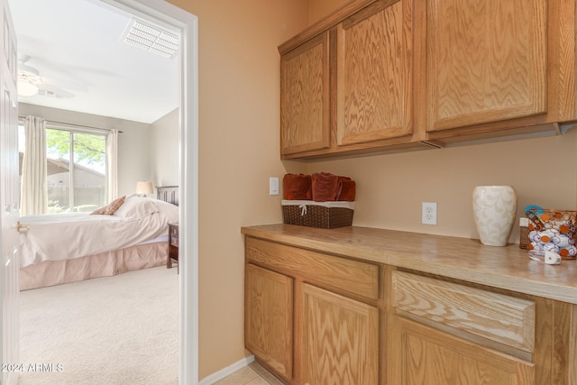
[[574, 0], [357, 0], [279, 46], [281, 157], [404, 150], [577, 120]]

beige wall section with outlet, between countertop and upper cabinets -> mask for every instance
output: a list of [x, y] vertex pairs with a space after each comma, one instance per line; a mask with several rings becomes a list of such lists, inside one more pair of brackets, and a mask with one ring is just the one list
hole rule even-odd
[[[309, 164], [308, 173], [319, 171], [357, 182], [353, 225], [478, 239], [475, 186], [513, 186], [517, 217], [529, 204], [577, 207], [577, 129], [564, 136]], [[437, 225], [421, 225], [422, 202], [437, 202]], [[518, 236], [516, 221], [509, 242], [518, 243]]]

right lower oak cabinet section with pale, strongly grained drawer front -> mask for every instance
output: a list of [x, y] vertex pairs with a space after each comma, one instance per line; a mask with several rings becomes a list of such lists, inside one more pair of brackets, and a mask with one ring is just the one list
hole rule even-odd
[[386, 384], [573, 385], [577, 307], [391, 269]]

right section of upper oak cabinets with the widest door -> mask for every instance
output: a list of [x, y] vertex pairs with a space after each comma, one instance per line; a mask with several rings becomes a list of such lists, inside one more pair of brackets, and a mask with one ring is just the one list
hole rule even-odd
[[490, 139], [577, 118], [574, 1], [424, 4], [427, 139]]

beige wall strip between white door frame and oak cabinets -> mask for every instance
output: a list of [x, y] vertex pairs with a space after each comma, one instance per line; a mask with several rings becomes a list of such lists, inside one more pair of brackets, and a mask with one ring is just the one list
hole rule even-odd
[[[199, 375], [241, 360], [243, 225], [278, 223], [277, 46], [307, 26], [307, 0], [169, 0], [198, 17]], [[303, 170], [305, 165], [300, 167]]]

